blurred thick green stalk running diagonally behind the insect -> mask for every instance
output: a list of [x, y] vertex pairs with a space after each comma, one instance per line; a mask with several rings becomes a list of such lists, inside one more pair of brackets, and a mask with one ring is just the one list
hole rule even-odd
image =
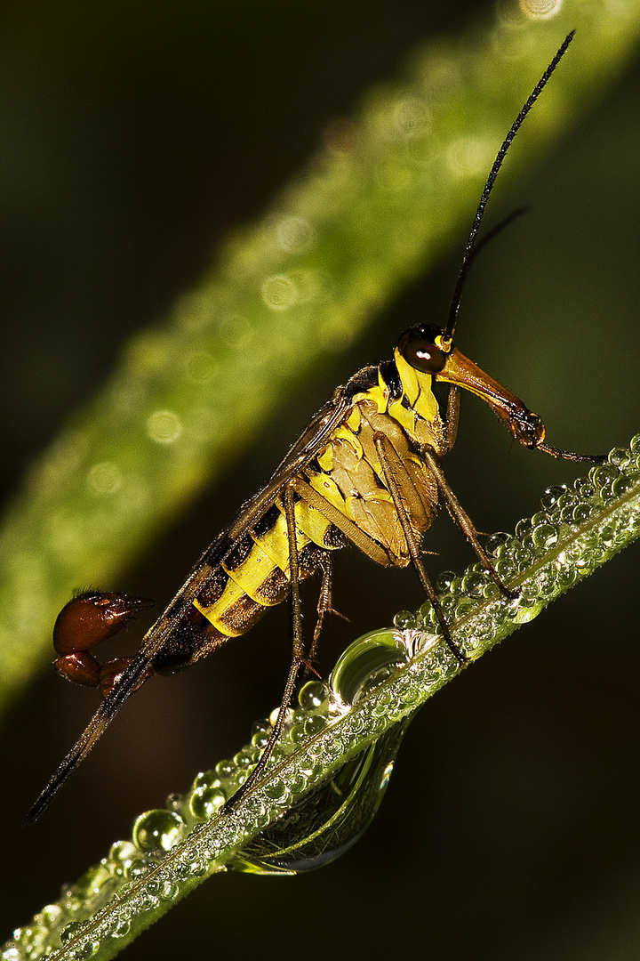
[[620, 73], [640, 29], [637, 0], [572, 0], [547, 19], [502, 11], [415, 51], [406, 77], [327, 130], [262, 221], [227, 242], [162, 325], [133, 338], [6, 513], [0, 702], [50, 656], [72, 590], [113, 582], [276, 405], [458, 237], [511, 121], [573, 28], [506, 164], [514, 176]]

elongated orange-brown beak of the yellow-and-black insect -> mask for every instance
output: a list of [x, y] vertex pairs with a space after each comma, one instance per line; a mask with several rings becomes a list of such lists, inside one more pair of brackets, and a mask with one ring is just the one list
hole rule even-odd
[[473, 360], [454, 347], [434, 380], [453, 383], [470, 390], [488, 404], [525, 447], [537, 447], [544, 439], [544, 424], [537, 414], [525, 407], [519, 397], [489, 377]]

